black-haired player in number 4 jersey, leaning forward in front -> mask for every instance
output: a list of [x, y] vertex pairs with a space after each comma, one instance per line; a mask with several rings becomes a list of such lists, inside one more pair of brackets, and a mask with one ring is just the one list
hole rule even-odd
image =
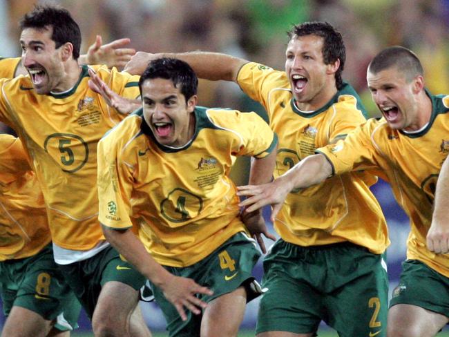
[[[251, 271], [260, 252], [244, 222], [266, 227], [260, 213], [240, 218], [229, 171], [249, 155], [250, 181], [269, 182], [276, 135], [256, 113], [196, 106], [198, 78], [184, 61], [152, 61], [139, 86], [143, 108], [98, 144], [99, 221], [151, 280], [169, 336], [237, 336], [246, 302], [258, 295]], [[201, 315], [170, 303], [163, 285], [177, 287], [171, 274], [213, 290], [200, 296], [208, 302]]]

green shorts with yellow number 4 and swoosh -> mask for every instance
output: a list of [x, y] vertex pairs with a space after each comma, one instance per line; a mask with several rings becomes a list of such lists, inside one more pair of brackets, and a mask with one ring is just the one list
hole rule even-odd
[[[247, 300], [260, 295], [260, 287], [252, 276], [252, 270], [260, 252], [254, 240], [243, 233], [233, 235], [209, 256], [189, 267], [166, 267], [175, 276], [195, 280], [199, 285], [209, 287], [213, 295], [199, 295], [204, 302], [230, 293], [240, 286], [247, 289]], [[200, 336], [202, 315], [194, 315], [187, 311], [187, 320], [182, 321], [175, 307], [164, 297], [162, 291], [152, 285], [157, 304], [162, 309], [167, 322], [169, 336]]]

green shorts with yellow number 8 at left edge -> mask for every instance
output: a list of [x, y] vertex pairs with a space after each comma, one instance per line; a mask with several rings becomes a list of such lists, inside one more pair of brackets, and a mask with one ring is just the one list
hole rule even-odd
[[81, 305], [53, 259], [52, 244], [30, 258], [0, 262], [0, 295], [5, 316], [23, 307], [56, 320], [61, 331], [78, 327]]

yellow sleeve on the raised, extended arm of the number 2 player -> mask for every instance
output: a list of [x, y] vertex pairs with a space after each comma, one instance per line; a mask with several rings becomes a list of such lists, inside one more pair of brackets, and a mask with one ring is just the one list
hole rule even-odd
[[237, 82], [251, 99], [264, 106], [268, 114], [270, 114], [270, 109], [268, 108], [270, 90], [285, 87], [288, 84], [287, 77], [283, 71], [274, 70], [269, 66], [254, 62], [249, 62], [240, 68]]

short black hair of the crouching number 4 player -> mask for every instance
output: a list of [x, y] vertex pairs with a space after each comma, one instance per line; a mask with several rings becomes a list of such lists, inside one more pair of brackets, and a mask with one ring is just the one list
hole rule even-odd
[[187, 64], [180, 59], [162, 57], [149, 63], [139, 80], [140, 95], [142, 96], [142, 85], [147, 79], [170, 79], [173, 85], [180, 84], [181, 93], [187, 100], [196, 95], [198, 89], [198, 77]]

